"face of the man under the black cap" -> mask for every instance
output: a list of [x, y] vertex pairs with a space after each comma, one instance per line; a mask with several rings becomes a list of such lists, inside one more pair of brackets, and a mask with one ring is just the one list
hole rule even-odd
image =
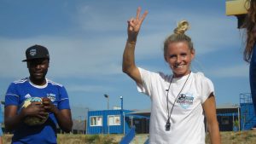
[[49, 60], [48, 59], [34, 59], [27, 61], [27, 68], [30, 73], [30, 80], [34, 84], [43, 84], [45, 76], [48, 72]]

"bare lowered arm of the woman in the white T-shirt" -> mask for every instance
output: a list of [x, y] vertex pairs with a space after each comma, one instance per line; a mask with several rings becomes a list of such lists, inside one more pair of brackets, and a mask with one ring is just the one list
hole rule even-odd
[[216, 104], [214, 95], [211, 94], [202, 106], [207, 117], [207, 125], [211, 138], [211, 143], [220, 144], [220, 134], [218, 130], [218, 120], [216, 116]]

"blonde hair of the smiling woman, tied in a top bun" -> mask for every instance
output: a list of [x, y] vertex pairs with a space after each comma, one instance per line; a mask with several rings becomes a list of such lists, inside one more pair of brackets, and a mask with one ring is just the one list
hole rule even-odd
[[194, 49], [193, 48], [193, 43], [191, 42], [191, 38], [187, 35], [185, 35], [185, 32], [189, 29], [189, 22], [187, 20], [182, 20], [177, 23], [177, 27], [174, 29], [174, 33], [167, 37], [165, 42], [164, 42], [164, 57], [166, 59], [166, 51], [168, 49], [168, 45], [170, 43], [175, 43], [175, 42], [187, 42], [189, 49]]

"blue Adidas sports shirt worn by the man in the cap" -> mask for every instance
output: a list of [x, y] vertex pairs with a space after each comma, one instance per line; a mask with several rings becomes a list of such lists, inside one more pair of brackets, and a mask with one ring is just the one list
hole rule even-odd
[[[31, 97], [48, 97], [59, 110], [70, 109], [66, 89], [61, 84], [56, 84], [46, 79], [46, 84], [38, 86], [32, 84], [29, 78], [20, 79], [9, 85], [5, 95], [5, 107], [15, 105], [20, 110], [23, 101]], [[14, 131], [13, 144], [27, 143], [57, 143], [56, 138], [57, 121], [53, 113], [44, 124], [29, 126], [21, 123]]]

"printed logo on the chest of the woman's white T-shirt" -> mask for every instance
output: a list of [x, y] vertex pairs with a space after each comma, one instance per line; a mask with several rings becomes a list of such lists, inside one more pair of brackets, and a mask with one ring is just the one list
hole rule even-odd
[[177, 98], [177, 103], [183, 107], [184, 109], [189, 108], [190, 106], [193, 105], [194, 101], [194, 96], [192, 94], [186, 93], [186, 94], [181, 94]]

